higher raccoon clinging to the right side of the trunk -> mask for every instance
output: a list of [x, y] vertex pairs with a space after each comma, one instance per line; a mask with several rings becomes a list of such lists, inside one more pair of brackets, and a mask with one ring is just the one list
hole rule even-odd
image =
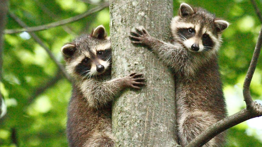
[[[176, 75], [177, 136], [182, 146], [227, 115], [217, 51], [228, 25], [205, 9], [182, 3], [171, 22], [172, 43], [151, 37], [143, 27], [131, 31], [133, 43], [152, 49]], [[204, 146], [221, 147], [224, 137], [221, 133]]]

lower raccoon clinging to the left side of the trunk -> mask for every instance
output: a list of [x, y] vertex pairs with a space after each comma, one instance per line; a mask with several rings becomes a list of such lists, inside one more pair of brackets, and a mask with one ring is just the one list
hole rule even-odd
[[66, 44], [62, 53], [74, 78], [67, 120], [69, 146], [113, 147], [111, 101], [124, 88], [140, 89], [145, 84], [143, 74], [107, 80], [111, 75], [111, 45], [103, 26]]

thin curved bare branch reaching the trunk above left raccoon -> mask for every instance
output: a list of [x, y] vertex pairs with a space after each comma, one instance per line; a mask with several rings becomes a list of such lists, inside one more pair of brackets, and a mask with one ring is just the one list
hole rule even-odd
[[19, 32], [33, 32], [33, 31], [40, 31], [40, 30], [46, 30], [46, 29], [50, 29], [52, 27], [57, 27], [57, 26], [61, 26], [61, 25], [65, 25], [65, 24], [68, 24], [68, 23], [71, 23], [71, 22], [75, 22], [77, 20], [80, 20], [92, 13], [95, 13], [95, 12], [98, 12], [106, 7], [109, 6], [109, 2], [105, 2], [93, 9], [90, 9], [88, 11], [86, 11], [85, 13], [83, 14], [79, 14], [77, 16], [74, 16], [74, 17], [71, 17], [71, 18], [68, 18], [68, 19], [64, 19], [64, 20], [60, 20], [60, 21], [57, 21], [57, 22], [52, 22], [50, 24], [46, 24], [46, 25], [41, 25], [41, 26], [34, 26], [34, 27], [24, 27], [23, 29], [12, 29], [12, 30], [5, 30], [5, 33], [7, 34], [12, 34], [12, 33], [19, 33]]

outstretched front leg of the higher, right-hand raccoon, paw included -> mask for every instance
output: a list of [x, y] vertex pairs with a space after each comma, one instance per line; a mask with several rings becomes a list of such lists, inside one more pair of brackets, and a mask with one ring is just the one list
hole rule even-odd
[[149, 47], [169, 67], [180, 69], [188, 59], [187, 52], [181, 49], [179, 44], [166, 43], [156, 39], [150, 36], [144, 27], [136, 28], [136, 32], [131, 31], [131, 33], [129, 37], [136, 40], [132, 43]]

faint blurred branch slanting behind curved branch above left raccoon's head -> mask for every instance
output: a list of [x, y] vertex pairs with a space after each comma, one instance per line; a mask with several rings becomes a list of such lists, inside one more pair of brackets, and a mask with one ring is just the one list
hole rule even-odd
[[[51, 16], [51, 18], [55, 21], [57, 21], [58, 16], [54, 14], [52, 11], [50, 11], [41, 1], [35, 0], [37, 5], [46, 13], [48, 16]], [[65, 32], [67, 32], [70, 35], [77, 36], [77, 34], [68, 26], [62, 26]]]

